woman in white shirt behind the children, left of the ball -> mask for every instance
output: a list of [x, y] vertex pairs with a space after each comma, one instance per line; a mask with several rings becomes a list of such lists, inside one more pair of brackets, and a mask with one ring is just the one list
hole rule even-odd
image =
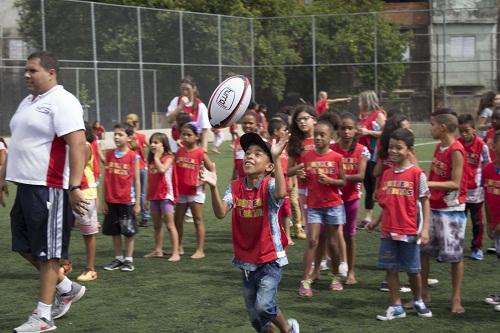
[[208, 119], [207, 106], [198, 98], [196, 84], [190, 77], [182, 79], [180, 90], [181, 95], [172, 98], [168, 105], [167, 121], [175, 126], [175, 119], [180, 112], [189, 113], [192, 120], [198, 123], [198, 126], [202, 129], [200, 141], [201, 146], [206, 151], [208, 148], [208, 131], [212, 128]]

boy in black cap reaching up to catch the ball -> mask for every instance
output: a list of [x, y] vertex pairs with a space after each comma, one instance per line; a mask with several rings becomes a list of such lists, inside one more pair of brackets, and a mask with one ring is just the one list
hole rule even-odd
[[[217, 190], [215, 170], [202, 170], [201, 180], [210, 185], [217, 218], [224, 218], [233, 209], [233, 265], [242, 271], [243, 296], [252, 326], [257, 332], [274, 332], [274, 324], [281, 333], [299, 333], [297, 321], [287, 321], [276, 304], [282, 267], [288, 263], [287, 239], [278, 222], [278, 210], [287, 192], [280, 155], [288, 138], [273, 140], [270, 147], [257, 133], [247, 133], [240, 142], [245, 151], [245, 177], [232, 180], [223, 198]], [[275, 178], [270, 176], [273, 171]]]

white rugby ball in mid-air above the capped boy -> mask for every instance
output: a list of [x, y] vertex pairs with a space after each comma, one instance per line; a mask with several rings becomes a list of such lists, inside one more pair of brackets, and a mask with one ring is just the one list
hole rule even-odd
[[243, 116], [252, 99], [252, 86], [243, 75], [224, 80], [208, 102], [208, 119], [214, 128], [228, 127]]

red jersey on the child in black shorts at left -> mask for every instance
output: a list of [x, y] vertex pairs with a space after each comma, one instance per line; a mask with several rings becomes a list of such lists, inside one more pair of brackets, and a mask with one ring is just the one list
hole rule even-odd
[[120, 158], [115, 156], [114, 149], [108, 150], [106, 153], [104, 173], [106, 202], [127, 205], [132, 202], [130, 193], [134, 185], [136, 156], [136, 153], [130, 149]]

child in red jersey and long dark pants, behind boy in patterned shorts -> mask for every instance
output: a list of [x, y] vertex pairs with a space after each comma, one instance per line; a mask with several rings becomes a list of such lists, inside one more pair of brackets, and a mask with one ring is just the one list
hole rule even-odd
[[464, 146], [468, 174], [467, 174], [467, 196], [465, 197], [465, 214], [470, 212], [472, 221], [472, 242], [470, 258], [483, 260], [483, 201], [484, 193], [481, 187], [481, 170], [490, 162], [488, 146], [476, 135], [474, 118], [470, 114], [462, 114], [458, 117], [458, 130], [460, 137], [458, 141]]

